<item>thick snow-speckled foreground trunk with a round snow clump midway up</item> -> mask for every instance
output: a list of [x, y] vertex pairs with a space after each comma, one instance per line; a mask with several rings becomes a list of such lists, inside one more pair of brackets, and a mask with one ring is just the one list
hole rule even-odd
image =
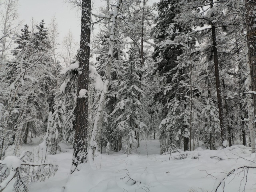
[[[90, 10], [91, 0], [82, 1], [81, 40], [79, 55], [78, 88], [76, 100], [75, 144], [73, 154], [73, 169], [79, 164], [87, 162], [87, 135], [88, 135], [88, 78], [90, 59]], [[81, 90], [85, 94], [79, 94]]]

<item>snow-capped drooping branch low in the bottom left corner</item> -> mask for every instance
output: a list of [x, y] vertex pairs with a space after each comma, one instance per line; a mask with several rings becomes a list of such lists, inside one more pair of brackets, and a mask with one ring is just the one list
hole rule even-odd
[[23, 155], [7, 156], [0, 161], [0, 192], [14, 179], [15, 192], [28, 192], [29, 183], [34, 181], [45, 181], [46, 178], [53, 176], [57, 170], [57, 165], [52, 163], [33, 163], [29, 156], [31, 153], [26, 151]]

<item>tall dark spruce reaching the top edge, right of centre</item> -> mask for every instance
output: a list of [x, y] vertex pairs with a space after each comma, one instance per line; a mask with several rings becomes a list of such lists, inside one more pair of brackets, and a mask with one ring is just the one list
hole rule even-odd
[[[174, 19], [178, 14], [180, 14], [178, 1], [169, 0], [158, 3], [158, 17], [155, 20], [156, 25], [153, 28], [152, 36], [156, 43], [153, 54], [156, 62], [155, 70], [161, 79], [155, 98], [161, 101], [163, 105], [162, 114], [165, 116], [165, 119], [163, 119], [159, 126], [160, 132], [162, 133], [160, 139], [167, 139], [166, 147], [168, 148], [173, 143], [173, 139], [171, 138], [175, 137], [179, 140], [180, 136], [183, 136], [184, 150], [188, 150], [189, 122], [187, 119], [189, 117], [184, 112], [189, 111], [188, 107], [190, 105], [187, 99], [188, 95], [186, 95], [190, 91], [187, 90], [189, 87], [185, 85], [189, 80], [189, 76], [186, 75], [189, 68], [178, 61], [178, 57], [184, 52], [183, 45], [170, 42], [173, 42], [179, 33], [187, 33], [190, 29], [182, 27]], [[178, 116], [178, 114], [183, 113], [184, 116]], [[172, 127], [172, 124], [177, 130]], [[165, 128], [165, 126], [168, 128]], [[163, 131], [165, 129], [166, 131]], [[176, 134], [178, 135], [176, 136]], [[163, 151], [165, 150], [163, 149]]]

